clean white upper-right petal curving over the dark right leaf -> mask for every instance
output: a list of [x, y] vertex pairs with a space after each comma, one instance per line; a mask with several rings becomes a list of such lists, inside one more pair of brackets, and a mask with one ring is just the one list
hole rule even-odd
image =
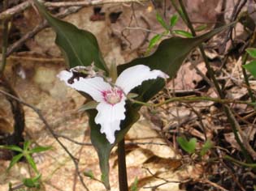
[[116, 79], [115, 85], [122, 88], [125, 94], [128, 94], [134, 87], [148, 79], [157, 79], [158, 77], [167, 79], [169, 76], [161, 70], [151, 70], [149, 66], [137, 65], [124, 70]]

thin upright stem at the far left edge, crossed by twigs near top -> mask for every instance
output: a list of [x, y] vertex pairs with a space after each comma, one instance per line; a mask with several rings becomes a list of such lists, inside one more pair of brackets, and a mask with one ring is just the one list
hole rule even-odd
[[[8, 0], [3, 1], [3, 10], [7, 10]], [[8, 19], [2, 21], [2, 62], [0, 65], [0, 77], [7, 64], [7, 44], [8, 44]]]

